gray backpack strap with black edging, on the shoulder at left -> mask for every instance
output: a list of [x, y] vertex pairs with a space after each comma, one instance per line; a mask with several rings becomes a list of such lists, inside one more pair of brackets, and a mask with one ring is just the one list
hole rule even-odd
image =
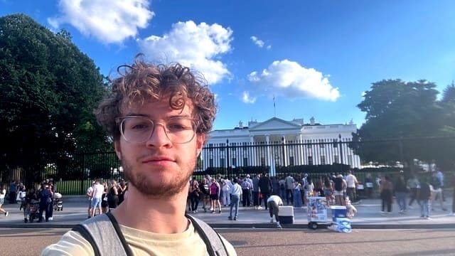
[[97, 215], [73, 228], [92, 245], [95, 255], [132, 255], [112, 213]]

